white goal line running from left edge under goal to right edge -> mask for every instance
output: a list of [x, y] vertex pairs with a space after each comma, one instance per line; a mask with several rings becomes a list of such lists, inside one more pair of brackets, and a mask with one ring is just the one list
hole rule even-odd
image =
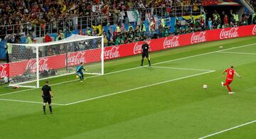
[[[237, 49], [237, 48], [244, 48], [244, 47], [247, 47], [247, 46], [250, 46], [250, 45], [256, 45], [256, 43], [252, 43], [252, 44], [249, 44], [249, 45], [241, 45], [241, 46], [238, 46], [238, 47], [235, 47], [235, 48], [216, 50], [216, 51], [213, 51], [213, 52], [206, 52], [206, 53], [203, 53], [203, 54], [192, 55], [192, 56], [188, 56], [188, 57], [182, 57], [182, 58], [178, 58], [178, 59], [175, 59], [175, 60], [167, 60], [167, 61], [164, 61], [164, 62], [157, 62], [157, 63], [154, 63], [152, 65], [159, 65], [159, 64], [166, 63], [166, 62], [184, 60], [184, 59], [188, 59], [188, 58], [192, 58], [192, 57], [198, 57], [198, 56], [201, 56], [201, 55], [209, 55], [209, 54], [213, 54], [215, 52], [222, 52], [222, 51], [225, 51], [225, 50], [233, 50], [233, 49]], [[118, 73], [118, 72], [125, 72], [125, 71], [128, 71], [128, 70], [135, 70], [135, 69], [138, 69], [138, 68], [141, 68], [141, 67], [132, 67], [132, 68], [129, 68], [129, 69], [126, 69], [126, 70], [118, 70], [118, 71], [115, 71], [115, 72], [106, 73], [104, 75], [114, 74], [114, 73]], [[92, 77], [99, 77], [99, 76], [102, 76], [102, 75], [96, 75], [96, 76], [92, 76]], [[85, 79], [92, 78], [92, 77], [85, 77]], [[57, 84], [51, 84], [51, 86], [58, 85], [58, 84], [65, 84], [65, 83], [68, 83], [68, 82], [75, 82], [75, 81], [78, 81], [78, 79], [73, 79], [73, 80], [66, 81], [66, 82], [60, 82], [60, 83], [57, 83]], [[30, 91], [30, 90], [33, 90], [33, 89], [24, 89], [24, 90], [21, 90], [21, 91]], [[13, 91], [11, 93], [0, 94], [0, 96], [9, 95], [9, 94], [16, 94], [16, 93], [21, 92], [21, 91]]]

